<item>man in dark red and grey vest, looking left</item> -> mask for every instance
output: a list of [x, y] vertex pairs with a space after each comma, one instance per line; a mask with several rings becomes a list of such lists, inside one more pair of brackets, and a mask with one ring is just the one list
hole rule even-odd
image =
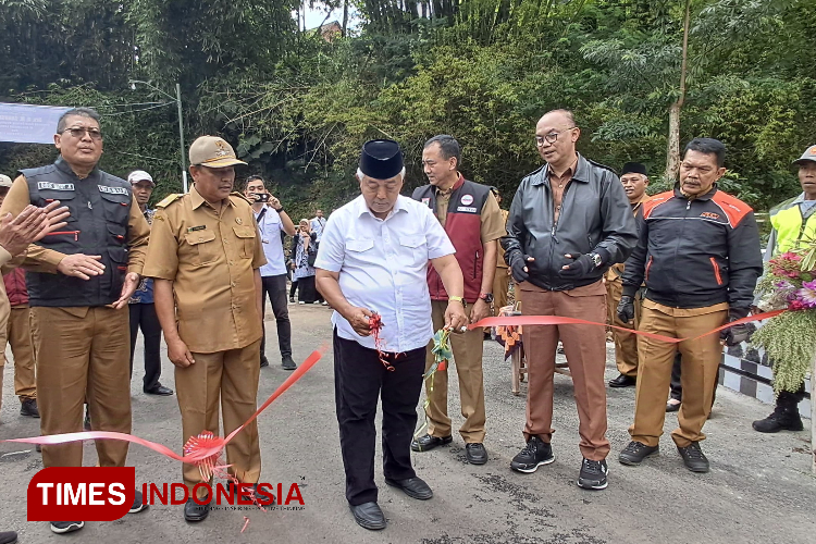
[[[470, 322], [491, 314], [493, 279], [496, 272], [498, 238], [506, 234], [502, 210], [486, 185], [469, 182], [459, 173], [461, 148], [453, 136], [434, 136], [422, 150], [422, 166], [430, 185], [413, 191], [412, 198], [428, 205], [456, 248], [456, 260], [465, 279], [465, 300], [470, 305]], [[428, 287], [434, 331], [444, 325], [448, 295], [436, 271], [428, 268]], [[450, 336], [454, 362], [459, 376], [459, 397], [465, 423], [459, 434], [466, 443], [468, 462], [484, 465], [484, 381], [482, 344], [484, 333], [474, 329]], [[425, 371], [434, 362], [429, 346]], [[433, 382], [431, 382], [433, 380]], [[453, 441], [447, 415], [447, 370], [437, 370], [425, 382], [428, 434], [411, 442], [415, 452], [428, 452]]]

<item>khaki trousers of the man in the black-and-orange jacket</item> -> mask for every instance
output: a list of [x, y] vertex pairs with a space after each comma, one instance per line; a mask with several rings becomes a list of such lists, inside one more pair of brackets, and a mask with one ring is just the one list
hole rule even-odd
[[[728, 304], [707, 308], [680, 309], [643, 301], [641, 331], [675, 338], [695, 337], [724, 324]], [[682, 356], [683, 401], [678, 412], [678, 429], [671, 438], [679, 447], [705, 440], [703, 425], [712, 411], [717, 372], [722, 356], [719, 334], [709, 334], [680, 344], [641, 337], [638, 342], [640, 369], [634, 397], [634, 423], [629, 428], [633, 441], [657, 446], [663, 434], [675, 353]]]

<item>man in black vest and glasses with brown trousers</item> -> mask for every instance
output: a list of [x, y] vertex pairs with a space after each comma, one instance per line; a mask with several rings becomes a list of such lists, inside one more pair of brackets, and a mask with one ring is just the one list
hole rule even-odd
[[[127, 300], [136, 290], [150, 227], [131, 184], [97, 168], [102, 154], [99, 114], [69, 110], [57, 125], [57, 162], [22, 170], [0, 214], [59, 200], [67, 224], [32, 245], [28, 270], [37, 400], [44, 435], [83, 430], [86, 398], [95, 431], [131, 432]], [[127, 442], [97, 441], [101, 467], [123, 467]], [[45, 467], [81, 467], [82, 442], [42, 446]], [[145, 509], [141, 494], [131, 512]], [[83, 521], [52, 521], [67, 533]]]

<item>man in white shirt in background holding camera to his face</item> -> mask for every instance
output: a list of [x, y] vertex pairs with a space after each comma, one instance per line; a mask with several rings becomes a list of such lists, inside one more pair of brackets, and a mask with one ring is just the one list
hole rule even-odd
[[[261, 235], [263, 255], [267, 264], [261, 267], [261, 300], [263, 312], [267, 312], [267, 297], [272, 302], [272, 311], [277, 323], [277, 345], [281, 348], [281, 367], [284, 370], [295, 370], [297, 364], [292, 358], [292, 324], [289, 310], [286, 306], [286, 259], [283, 255], [283, 233], [293, 236], [295, 224], [283, 210], [281, 201], [270, 195], [259, 175], [251, 175], [244, 185], [244, 195], [252, 203], [255, 220]], [[263, 327], [261, 339], [261, 367], [268, 367], [267, 359], [267, 327]]]

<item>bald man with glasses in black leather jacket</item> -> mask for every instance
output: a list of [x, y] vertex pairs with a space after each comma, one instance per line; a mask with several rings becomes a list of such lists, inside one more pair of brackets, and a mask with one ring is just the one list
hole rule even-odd
[[[603, 275], [623, 262], [638, 242], [632, 210], [618, 176], [576, 152], [581, 129], [572, 112], [555, 110], [535, 127], [535, 145], [546, 164], [527, 175], [512, 199], [505, 260], [519, 284], [526, 316], [558, 316], [606, 322]], [[564, 344], [574, 385], [583, 462], [578, 485], [607, 485], [606, 333], [597, 325], [524, 327], [529, 388], [527, 446], [510, 468], [534, 472], [555, 460], [553, 373], [558, 341]]]

